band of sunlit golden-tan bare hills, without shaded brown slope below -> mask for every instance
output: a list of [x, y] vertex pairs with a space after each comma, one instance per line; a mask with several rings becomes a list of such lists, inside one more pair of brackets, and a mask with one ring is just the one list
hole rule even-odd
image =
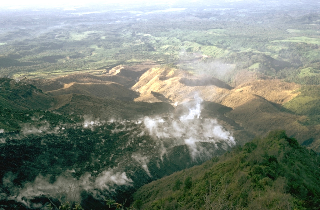
[[[198, 85], [188, 86], [182, 81], [200, 81]], [[201, 81], [204, 81], [201, 83]], [[228, 85], [219, 86], [205, 83], [205, 76], [194, 76], [177, 69], [154, 68], [145, 72], [132, 90], [140, 93], [135, 101], [158, 101], [151, 91], [163, 94], [172, 103], [192, 99], [198, 95], [205, 101], [213, 101], [222, 105], [236, 108], [248, 100], [261, 96], [273, 103], [282, 104], [297, 95], [300, 85], [286, 83], [280, 80], [258, 80], [241, 85], [230, 90]], [[221, 81], [220, 81], [221, 82]]]

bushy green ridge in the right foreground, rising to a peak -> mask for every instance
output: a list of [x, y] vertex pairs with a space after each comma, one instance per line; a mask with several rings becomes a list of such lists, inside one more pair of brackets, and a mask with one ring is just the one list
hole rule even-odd
[[[318, 156], [272, 131], [200, 166], [138, 189], [142, 209], [317, 209]], [[143, 206], [142, 206], [143, 205]]]

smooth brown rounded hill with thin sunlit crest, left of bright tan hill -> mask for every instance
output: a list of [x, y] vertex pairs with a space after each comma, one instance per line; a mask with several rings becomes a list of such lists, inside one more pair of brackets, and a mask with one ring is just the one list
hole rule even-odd
[[125, 101], [133, 101], [138, 94], [122, 85], [116, 83], [96, 84], [96, 83], [70, 83], [65, 88], [48, 91], [51, 96], [63, 94], [83, 94], [98, 98], [119, 99]]

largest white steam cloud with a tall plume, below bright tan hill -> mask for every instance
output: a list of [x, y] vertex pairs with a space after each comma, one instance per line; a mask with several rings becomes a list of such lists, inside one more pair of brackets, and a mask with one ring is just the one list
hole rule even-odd
[[194, 107], [188, 114], [180, 116], [180, 120], [163, 117], [145, 117], [143, 123], [149, 134], [157, 139], [162, 147], [161, 159], [168, 147], [187, 145], [190, 155], [195, 160], [200, 156], [212, 157], [212, 152], [197, 142], [208, 142], [215, 149], [235, 146], [236, 141], [229, 131], [226, 131], [216, 119], [201, 118], [201, 98], [196, 99]]

